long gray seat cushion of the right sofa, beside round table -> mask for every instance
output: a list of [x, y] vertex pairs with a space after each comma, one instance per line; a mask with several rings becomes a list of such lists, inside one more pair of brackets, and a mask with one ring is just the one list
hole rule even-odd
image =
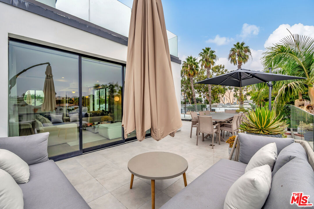
[[223, 209], [231, 185], [244, 174], [246, 164], [221, 159], [160, 209]]

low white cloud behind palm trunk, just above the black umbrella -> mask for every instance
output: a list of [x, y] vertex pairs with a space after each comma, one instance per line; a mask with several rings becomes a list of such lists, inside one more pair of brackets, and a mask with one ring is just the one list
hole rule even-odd
[[[263, 52], [264, 50], [251, 49], [252, 59], [250, 59], [246, 64], [242, 65], [242, 68], [251, 71], [262, 71], [263, 65], [261, 64], [260, 59]], [[216, 61], [216, 65], [225, 65], [225, 68], [228, 69], [228, 71], [234, 71], [237, 69], [237, 66], [231, 64], [230, 61], [225, 57], [219, 58], [219, 60]]]

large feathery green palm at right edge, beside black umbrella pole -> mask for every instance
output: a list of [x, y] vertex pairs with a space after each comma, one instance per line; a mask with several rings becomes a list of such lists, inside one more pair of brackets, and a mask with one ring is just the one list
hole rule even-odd
[[[273, 92], [276, 95], [274, 106], [285, 104], [294, 95], [299, 95], [299, 101], [302, 101], [302, 93], [306, 92], [306, 89], [308, 89], [311, 100], [310, 104], [313, 106], [314, 39], [309, 36], [290, 33], [278, 44], [266, 49], [267, 51], [263, 53], [262, 58], [265, 69], [272, 67], [274, 73], [307, 78], [305, 80], [273, 82]], [[306, 109], [308, 110], [309, 107]]]

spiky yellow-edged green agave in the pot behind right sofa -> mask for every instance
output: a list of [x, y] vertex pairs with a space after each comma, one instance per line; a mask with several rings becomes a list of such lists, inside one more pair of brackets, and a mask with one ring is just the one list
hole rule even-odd
[[256, 108], [255, 111], [249, 110], [246, 118], [240, 124], [241, 132], [276, 135], [283, 134], [287, 127], [282, 117], [276, 116], [275, 110], [268, 110], [265, 107]]

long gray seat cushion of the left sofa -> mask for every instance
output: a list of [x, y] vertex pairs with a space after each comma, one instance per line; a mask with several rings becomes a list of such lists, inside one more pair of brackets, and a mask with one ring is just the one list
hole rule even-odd
[[24, 209], [90, 209], [53, 160], [30, 165], [30, 181], [19, 186]]

